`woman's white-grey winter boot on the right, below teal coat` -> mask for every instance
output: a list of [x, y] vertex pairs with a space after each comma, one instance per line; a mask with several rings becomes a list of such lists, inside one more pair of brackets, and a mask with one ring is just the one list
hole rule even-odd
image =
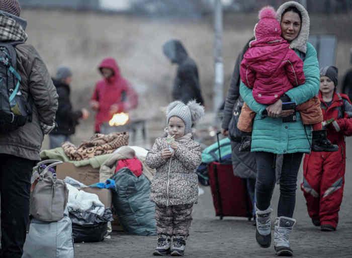
[[296, 220], [289, 217], [277, 217], [275, 220], [274, 230], [274, 248], [278, 256], [292, 256], [293, 251], [290, 248], [290, 233]]

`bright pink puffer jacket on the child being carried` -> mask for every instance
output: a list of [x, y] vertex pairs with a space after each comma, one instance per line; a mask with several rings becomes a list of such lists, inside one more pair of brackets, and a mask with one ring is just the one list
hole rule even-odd
[[260, 104], [273, 104], [305, 82], [303, 61], [280, 36], [252, 41], [243, 56], [240, 75]]

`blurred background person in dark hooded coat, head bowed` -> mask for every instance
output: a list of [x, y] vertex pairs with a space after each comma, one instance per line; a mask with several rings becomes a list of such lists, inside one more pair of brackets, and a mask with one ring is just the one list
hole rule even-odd
[[169, 40], [162, 46], [162, 50], [171, 63], [179, 65], [173, 82], [172, 99], [185, 104], [196, 100], [204, 106], [197, 64], [189, 57], [181, 41]]

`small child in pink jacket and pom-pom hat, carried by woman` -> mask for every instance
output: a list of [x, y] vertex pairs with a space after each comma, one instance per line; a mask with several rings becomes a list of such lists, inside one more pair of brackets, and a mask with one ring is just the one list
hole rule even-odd
[[[293, 87], [304, 84], [303, 61], [290, 48], [290, 43], [281, 36], [281, 26], [272, 7], [259, 11], [259, 22], [254, 27], [255, 39], [249, 42], [249, 49], [243, 56], [240, 67], [241, 80], [253, 89], [253, 98], [260, 104], [270, 105], [280, 98], [290, 102], [285, 93]], [[323, 115], [317, 97], [298, 105], [302, 122], [312, 125], [314, 131], [322, 130]], [[244, 103], [237, 128], [245, 133], [252, 131], [255, 112]], [[336, 151], [337, 146], [325, 139], [314, 139], [314, 151]], [[321, 134], [319, 134], [321, 137]], [[250, 136], [242, 138], [241, 151], [250, 150]]]

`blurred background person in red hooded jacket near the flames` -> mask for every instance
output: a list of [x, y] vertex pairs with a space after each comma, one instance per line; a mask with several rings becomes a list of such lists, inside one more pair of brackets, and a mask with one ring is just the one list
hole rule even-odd
[[94, 90], [91, 107], [97, 111], [95, 132], [100, 133], [101, 125], [109, 122], [114, 114], [128, 112], [138, 105], [138, 96], [130, 83], [122, 77], [114, 58], [105, 58], [99, 65], [103, 79]]

